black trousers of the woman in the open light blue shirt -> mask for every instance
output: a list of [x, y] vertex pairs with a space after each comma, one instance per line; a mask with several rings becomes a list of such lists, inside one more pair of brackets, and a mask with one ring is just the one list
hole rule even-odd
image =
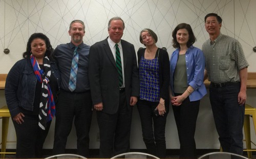
[[[178, 96], [180, 94], [175, 94]], [[174, 106], [174, 117], [180, 140], [180, 158], [197, 158], [195, 131], [200, 100], [190, 102], [186, 98], [180, 106]]]

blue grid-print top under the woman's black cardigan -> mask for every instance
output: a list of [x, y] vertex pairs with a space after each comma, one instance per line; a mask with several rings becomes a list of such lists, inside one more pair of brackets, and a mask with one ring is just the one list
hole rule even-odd
[[139, 74], [140, 99], [159, 102], [160, 85], [158, 57], [152, 60], [147, 60], [144, 57], [141, 57]]

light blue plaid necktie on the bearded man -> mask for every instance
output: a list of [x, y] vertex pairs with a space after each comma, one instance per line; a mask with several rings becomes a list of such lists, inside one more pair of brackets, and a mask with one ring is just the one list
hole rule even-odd
[[71, 71], [70, 71], [70, 78], [69, 78], [69, 89], [71, 92], [73, 92], [76, 89], [76, 76], [77, 76], [77, 69], [78, 69], [78, 52], [77, 48], [75, 48], [73, 59], [72, 59], [72, 65], [71, 65]]

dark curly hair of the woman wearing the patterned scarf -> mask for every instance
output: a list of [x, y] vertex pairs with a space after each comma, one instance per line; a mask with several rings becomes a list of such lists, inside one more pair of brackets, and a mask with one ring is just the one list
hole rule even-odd
[[29, 40], [28, 40], [28, 43], [27, 43], [27, 50], [26, 52], [23, 53], [23, 57], [24, 58], [30, 58], [31, 56], [31, 43], [34, 39], [42, 39], [45, 41], [46, 43], [46, 53], [45, 53], [45, 56], [48, 56], [48, 58], [50, 60], [53, 60], [53, 48], [52, 48], [52, 45], [50, 43], [50, 40], [49, 38], [45, 35], [45, 34], [42, 34], [42, 33], [34, 33], [30, 36]]

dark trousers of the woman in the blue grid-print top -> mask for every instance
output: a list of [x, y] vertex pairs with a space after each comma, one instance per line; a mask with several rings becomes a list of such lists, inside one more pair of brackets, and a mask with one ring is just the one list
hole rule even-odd
[[[140, 115], [143, 141], [146, 145], [147, 153], [165, 158], [165, 124], [169, 112], [169, 106], [165, 106], [164, 116], [156, 117], [154, 110], [159, 102], [139, 100], [137, 107]], [[154, 127], [153, 127], [154, 124]]]

